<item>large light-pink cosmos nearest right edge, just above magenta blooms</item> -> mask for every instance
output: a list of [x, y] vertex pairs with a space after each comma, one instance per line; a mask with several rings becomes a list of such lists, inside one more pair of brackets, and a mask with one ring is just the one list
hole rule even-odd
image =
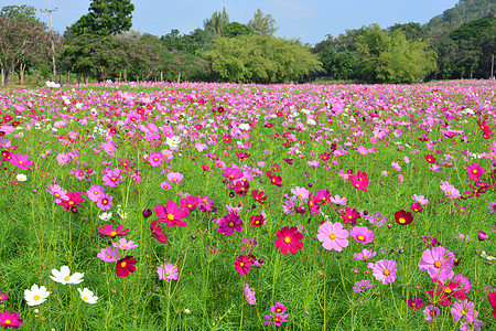
[[420, 270], [427, 270], [429, 276], [441, 281], [453, 278], [454, 255], [444, 247], [425, 249], [419, 263]]

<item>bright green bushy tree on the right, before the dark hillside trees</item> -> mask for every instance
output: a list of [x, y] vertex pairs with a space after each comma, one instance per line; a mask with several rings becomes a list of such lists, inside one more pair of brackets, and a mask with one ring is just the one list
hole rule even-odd
[[357, 38], [360, 54], [358, 70], [367, 82], [412, 83], [435, 70], [435, 53], [427, 51], [428, 42], [407, 41], [396, 30], [388, 34], [374, 24]]

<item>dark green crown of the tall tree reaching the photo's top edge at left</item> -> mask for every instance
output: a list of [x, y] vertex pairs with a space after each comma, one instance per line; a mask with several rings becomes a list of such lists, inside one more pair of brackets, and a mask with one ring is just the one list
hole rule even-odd
[[76, 21], [71, 30], [75, 35], [110, 35], [129, 31], [134, 6], [131, 0], [93, 0], [88, 13]]

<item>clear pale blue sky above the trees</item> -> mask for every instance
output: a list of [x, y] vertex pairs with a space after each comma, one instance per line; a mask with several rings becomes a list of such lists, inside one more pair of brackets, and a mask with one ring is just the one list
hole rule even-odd
[[[29, 4], [36, 9], [58, 8], [53, 14], [54, 30], [65, 28], [87, 13], [90, 0], [2, 0], [0, 6]], [[155, 35], [177, 29], [190, 33], [203, 28], [203, 20], [226, 8], [229, 20], [248, 23], [257, 8], [270, 13], [279, 26], [277, 36], [296, 38], [315, 44], [326, 34], [337, 35], [347, 29], [378, 23], [381, 28], [395, 23], [427, 23], [432, 17], [454, 7], [457, 0], [132, 0], [132, 30]], [[48, 22], [46, 13], [39, 18]]]

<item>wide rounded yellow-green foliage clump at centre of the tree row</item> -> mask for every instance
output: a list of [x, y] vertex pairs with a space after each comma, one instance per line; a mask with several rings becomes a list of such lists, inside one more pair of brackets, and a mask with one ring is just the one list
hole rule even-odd
[[239, 83], [298, 81], [321, 70], [321, 63], [299, 41], [260, 35], [218, 38], [205, 53], [216, 79]]

